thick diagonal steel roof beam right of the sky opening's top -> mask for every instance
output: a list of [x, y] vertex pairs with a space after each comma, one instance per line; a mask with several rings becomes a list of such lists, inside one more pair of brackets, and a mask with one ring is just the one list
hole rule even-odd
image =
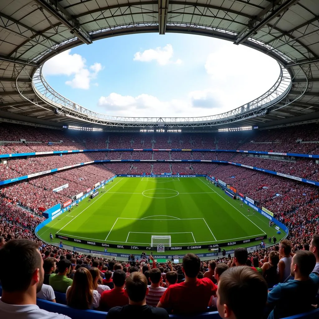
[[249, 20], [248, 27], [237, 35], [234, 44], [241, 44], [255, 35], [263, 26], [298, 1], [299, 0], [276, 0], [271, 3], [267, 8], [261, 11], [256, 18]]

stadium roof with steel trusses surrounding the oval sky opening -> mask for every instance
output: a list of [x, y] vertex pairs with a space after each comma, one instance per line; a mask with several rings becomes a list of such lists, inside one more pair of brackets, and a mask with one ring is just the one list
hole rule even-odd
[[[82, 108], [50, 88], [39, 70], [46, 60], [66, 49], [145, 32], [206, 35], [255, 48], [280, 63], [281, 78], [271, 92], [227, 114], [136, 119], [101, 116]], [[1, 0], [0, 117], [54, 126], [86, 122], [89, 126], [139, 127], [145, 123], [176, 126], [177, 122], [180, 126], [238, 126], [238, 121], [270, 125], [317, 119], [318, 1]]]

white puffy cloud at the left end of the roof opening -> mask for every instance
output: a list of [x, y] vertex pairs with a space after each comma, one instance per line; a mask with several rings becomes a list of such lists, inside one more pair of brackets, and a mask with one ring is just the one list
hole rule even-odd
[[[72, 88], [87, 90], [90, 88], [91, 80], [103, 69], [100, 63], [94, 63], [89, 68], [86, 60], [81, 55], [71, 54], [71, 49], [66, 50], [44, 63], [43, 74], [47, 75], [66, 75], [72, 79], [65, 82]], [[98, 85], [94, 83], [93, 85]]]

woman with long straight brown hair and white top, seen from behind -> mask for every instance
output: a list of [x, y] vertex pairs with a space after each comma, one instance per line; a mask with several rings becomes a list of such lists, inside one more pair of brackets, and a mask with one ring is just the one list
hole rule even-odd
[[90, 271], [80, 267], [74, 274], [72, 286], [66, 290], [67, 305], [77, 309], [93, 309], [100, 305], [101, 295], [94, 290]]

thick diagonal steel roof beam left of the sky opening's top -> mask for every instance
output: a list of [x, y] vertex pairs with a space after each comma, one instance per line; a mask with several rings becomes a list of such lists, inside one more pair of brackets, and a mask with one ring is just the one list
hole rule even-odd
[[80, 27], [78, 20], [74, 19], [57, 1], [52, 0], [34, 0], [39, 6], [43, 7], [52, 16], [66, 26], [71, 33], [74, 33], [79, 40], [86, 44], [92, 43], [90, 34]]

